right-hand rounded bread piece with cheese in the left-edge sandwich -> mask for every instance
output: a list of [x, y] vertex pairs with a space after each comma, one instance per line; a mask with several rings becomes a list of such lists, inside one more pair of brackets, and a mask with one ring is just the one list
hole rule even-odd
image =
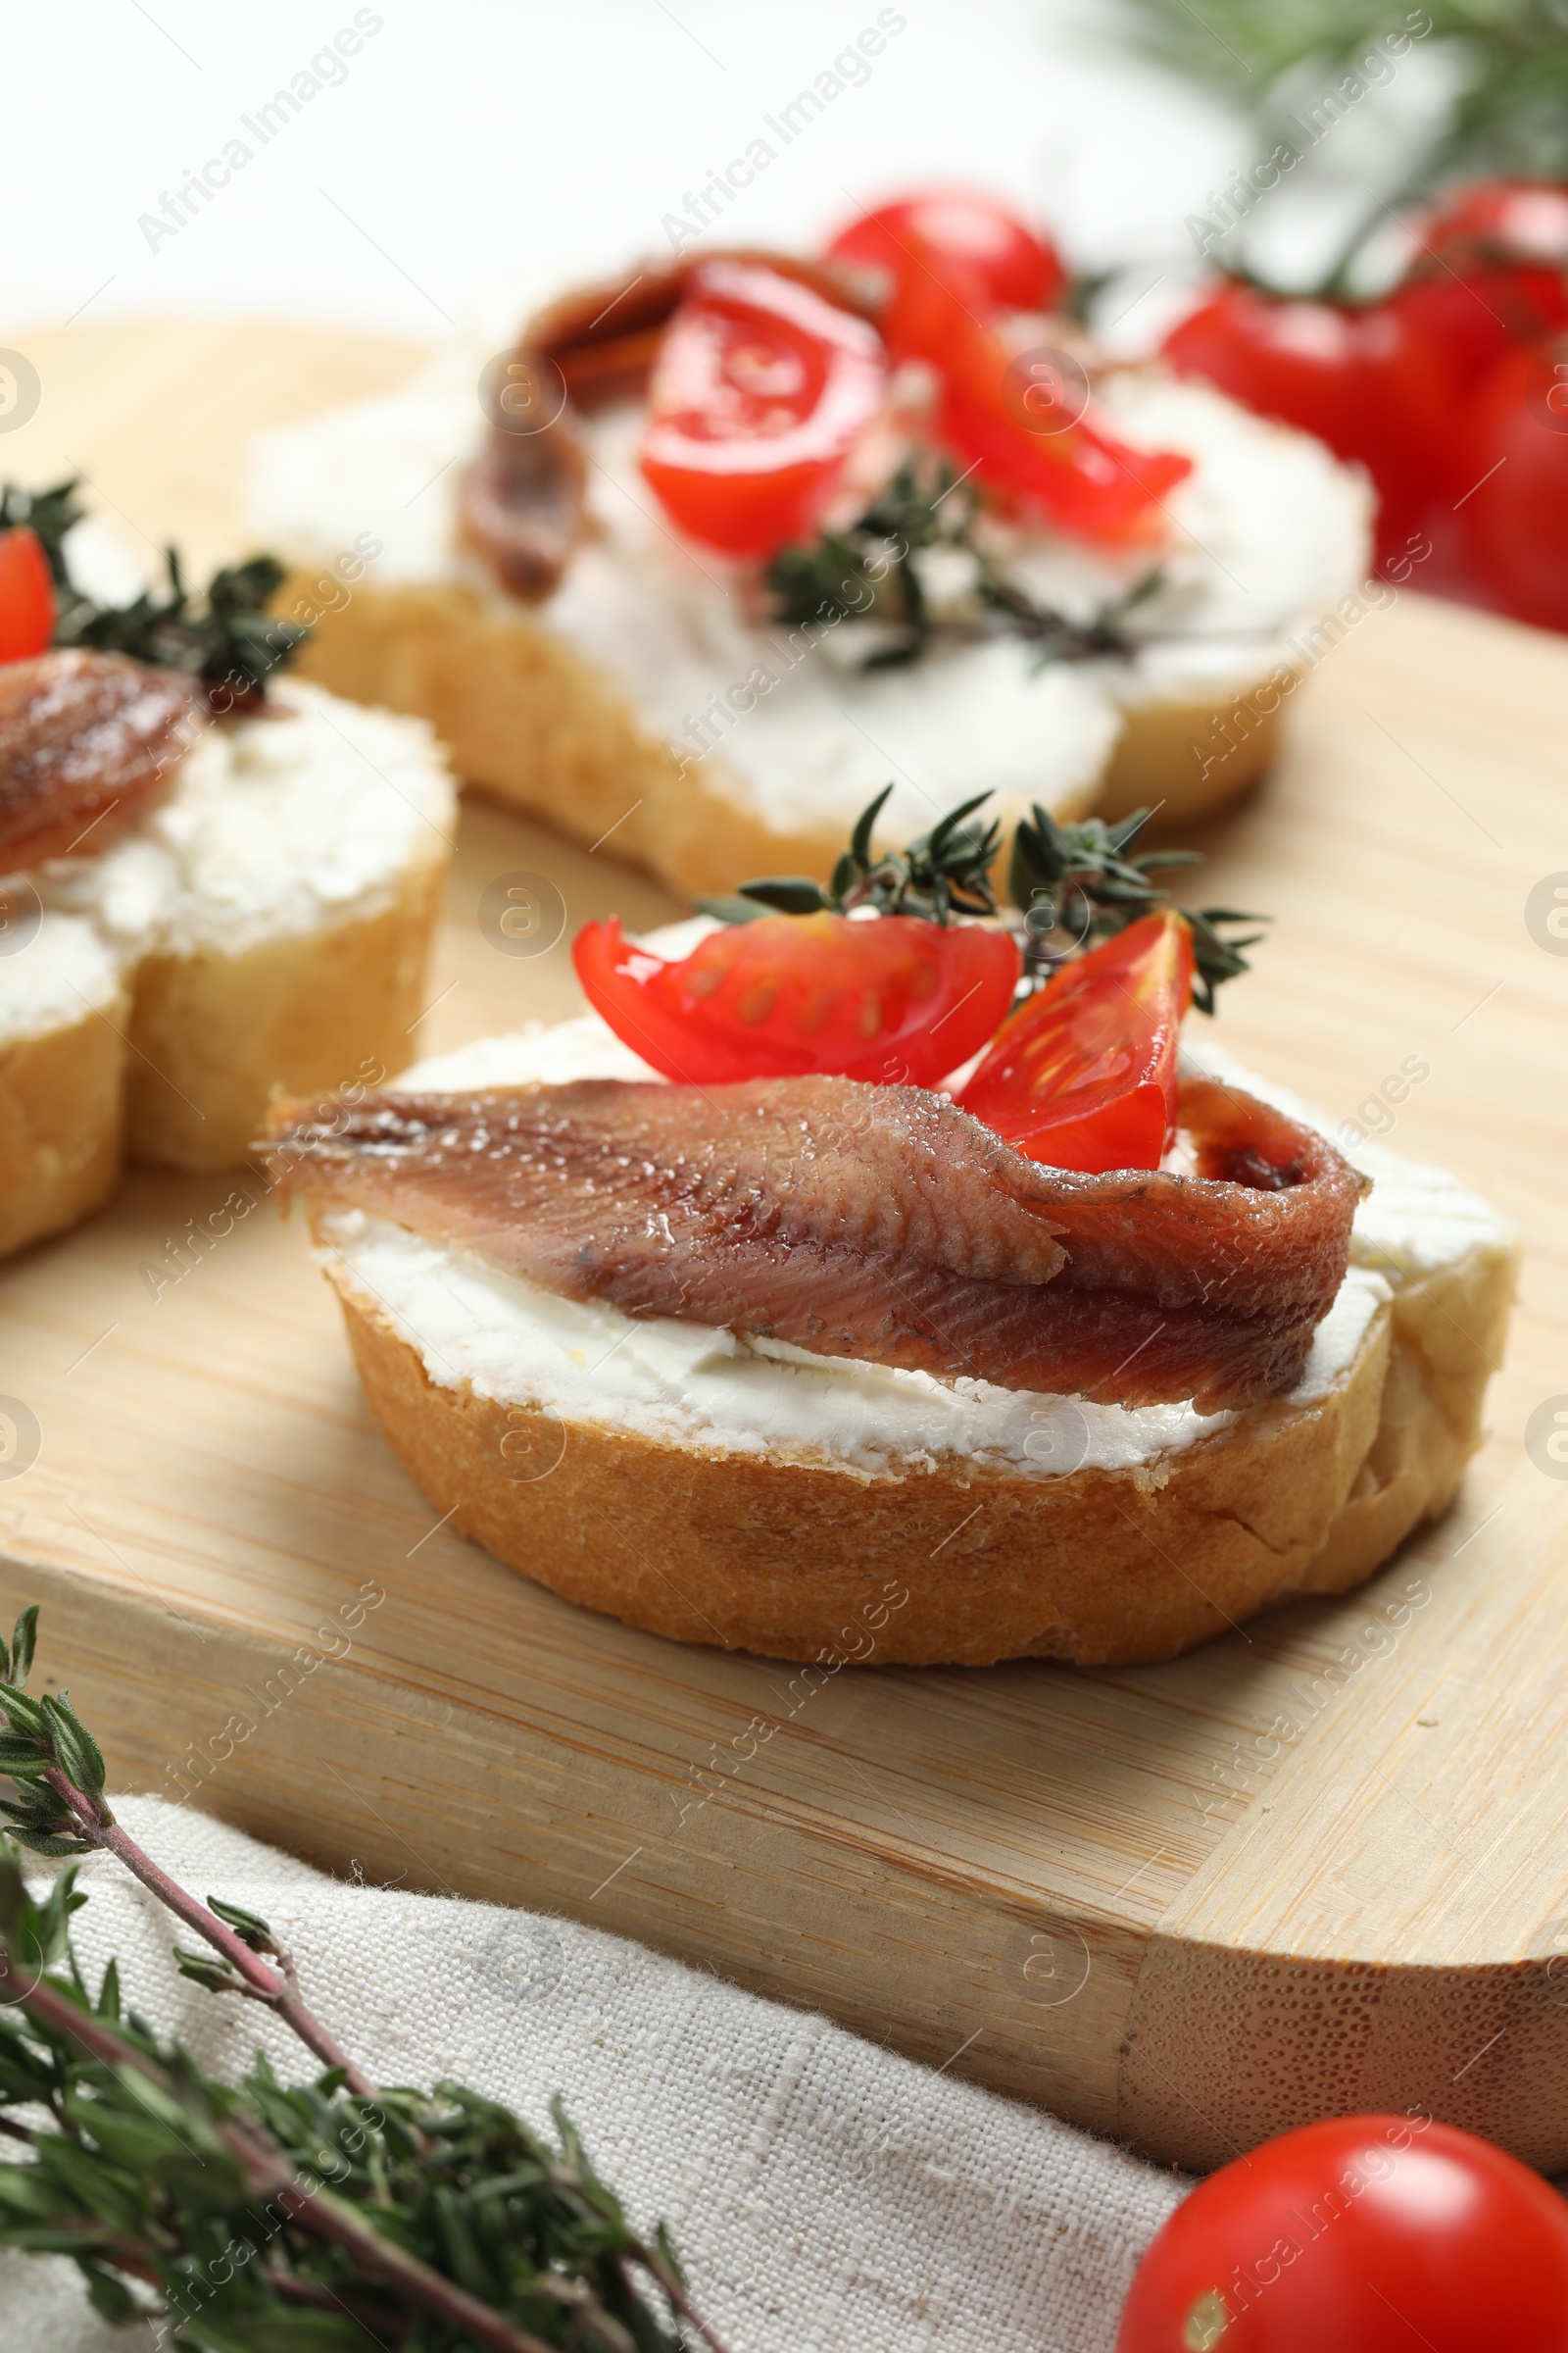
[[207, 727], [103, 856], [45, 873], [127, 967], [134, 1160], [230, 1167], [275, 1087], [397, 1064], [451, 826], [428, 727], [284, 680], [256, 718]]

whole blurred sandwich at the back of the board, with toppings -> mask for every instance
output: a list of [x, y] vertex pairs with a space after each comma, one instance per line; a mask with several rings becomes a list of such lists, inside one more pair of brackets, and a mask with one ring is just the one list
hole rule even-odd
[[[252, 522], [306, 671], [418, 711], [458, 772], [684, 894], [827, 880], [987, 786], [1004, 819], [1234, 798], [1368, 565], [1319, 442], [1063, 315], [983, 198], [823, 256], [689, 252], [482, 334], [407, 393], [263, 438]], [[515, 325], [508, 320], [508, 334]]]

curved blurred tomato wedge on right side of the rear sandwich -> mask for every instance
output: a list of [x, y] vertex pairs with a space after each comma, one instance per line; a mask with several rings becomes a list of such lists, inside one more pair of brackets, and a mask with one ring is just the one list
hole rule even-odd
[[936, 369], [938, 438], [1063, 532], [1107, 544], [1164, 536], [1161, 501], [1192, 473], [1192, 459], [1131, 449], [1086, 414], [1044, 416], [1030, 405], [1020, 355], [992, 322], [980, 280], [933, 249], [914, 252], [924, 266], [896, 287], [884, 334], [893, 358]]

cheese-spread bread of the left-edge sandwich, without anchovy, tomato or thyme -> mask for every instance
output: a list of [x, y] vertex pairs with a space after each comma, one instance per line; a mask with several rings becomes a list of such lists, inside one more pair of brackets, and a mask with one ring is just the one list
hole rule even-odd
[[230, 1167], [275, 1087], [395, 1068], [454, 800], [421, 720], [284, 680], [99, 856], [7, 878], [0, 1252], [78, 1224], [122, 1158]]

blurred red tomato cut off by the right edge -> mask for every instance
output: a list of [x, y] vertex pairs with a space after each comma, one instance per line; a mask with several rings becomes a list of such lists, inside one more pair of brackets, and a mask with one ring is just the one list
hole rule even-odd
[[1469, 419], [1460, 522], [1505, 612], [1568, 628], [1568, 336], [1509, 353]]

